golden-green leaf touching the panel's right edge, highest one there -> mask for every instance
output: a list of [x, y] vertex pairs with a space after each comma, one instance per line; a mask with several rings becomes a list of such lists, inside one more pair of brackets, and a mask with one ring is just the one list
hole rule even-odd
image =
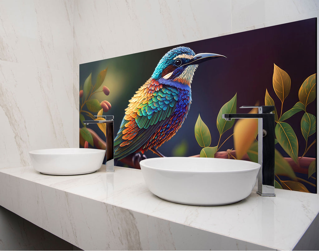
[[300, 86], [298, 97], [301, 103], [308, 106], [316, 98], [316, 74], [309, 76]]

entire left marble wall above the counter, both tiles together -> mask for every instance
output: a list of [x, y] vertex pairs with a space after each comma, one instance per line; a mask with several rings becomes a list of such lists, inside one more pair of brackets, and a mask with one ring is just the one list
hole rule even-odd
[[0, 168], [72, 145], [73, 1], [0, 3]]

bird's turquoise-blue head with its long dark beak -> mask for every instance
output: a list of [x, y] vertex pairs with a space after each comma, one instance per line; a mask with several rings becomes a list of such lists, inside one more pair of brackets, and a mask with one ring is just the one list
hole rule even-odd
[[217, 57], [225, 56], [213, 53], [195, 55], [194, 51], [188, 47], [176, 47], [161, 58], [152, 78], [165, 85], [178, 88], [190, 87], [198, 64]]

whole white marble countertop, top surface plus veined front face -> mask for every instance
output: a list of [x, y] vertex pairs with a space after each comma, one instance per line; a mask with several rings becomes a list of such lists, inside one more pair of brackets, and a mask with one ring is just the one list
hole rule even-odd
[[276, 197], [262, 197], [253, 190], [231, 205], [190, 206], [153, 195], [140, 170], [104, 168], [71, 176], [0, 169], [0, 205], [82, 249], [319, 247], [318, 194], [276, 189]]

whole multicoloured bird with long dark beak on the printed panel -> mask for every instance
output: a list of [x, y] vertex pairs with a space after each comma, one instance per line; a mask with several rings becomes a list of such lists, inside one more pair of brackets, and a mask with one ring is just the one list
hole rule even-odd
[[168, 51], [152, 77], [129, 100], [125, 116], [114, 140], [115, 159], [157, 148], [181, 128], [192, 101], [190, 84], [199, 63], [225, 57], [219, 54], [195, 55], [188, 47]]

